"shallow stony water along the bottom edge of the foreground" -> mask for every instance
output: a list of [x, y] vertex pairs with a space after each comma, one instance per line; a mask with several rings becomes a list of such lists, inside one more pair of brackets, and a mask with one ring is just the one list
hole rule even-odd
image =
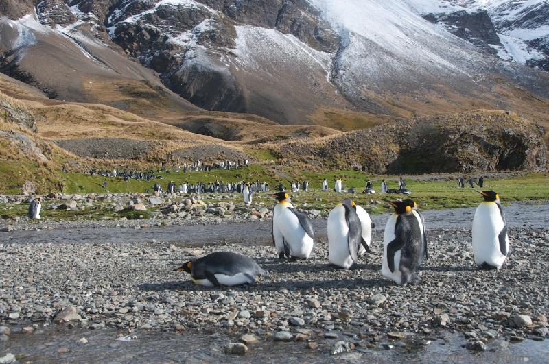
[[[280, 362], [281, 354], [284, 363], [547, 363], [549, 357], [549, 345], [544, 341], [495, 339], [489, 341], [489, 350], [476, 353], [463, 348], [463, 335], [452, 333], [434, 337], [428, 345], [392, 350], [358, 345], [338, 356], [329, 353], [336, 340], [327, 339], [320, 339], [315, 350], [303, 342], [261, 341], [249, 345], [245, 356], [237, 356], [224, 353], [226, 344], [237, 337], [216, 333], [138, 331], [117, 336], [115, 330], [45, 328], [33, 335], [12, 334], [10, 341], [0, 343], [0, 353], [10, 352], [19, 361], [32, 363], [270, 363]], [[82, 338], [87, 343], [79, 342]], [[360, 343], [360, 339], [355, 341]]]

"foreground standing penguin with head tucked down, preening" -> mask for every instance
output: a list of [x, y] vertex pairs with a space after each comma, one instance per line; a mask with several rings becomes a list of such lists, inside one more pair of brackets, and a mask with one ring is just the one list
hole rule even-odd
[[329, 262], [349, 269], [358, 261], [362, 224], [351, 199], [344, 199], [328, 216]]

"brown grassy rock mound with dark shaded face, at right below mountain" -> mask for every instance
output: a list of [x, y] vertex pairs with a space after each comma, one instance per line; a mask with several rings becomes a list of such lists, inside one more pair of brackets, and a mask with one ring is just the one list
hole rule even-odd
[[509, 112], [466, 112], [351, 132], [325, 143], [288, 143], [285, 158], [368, 173], [545, 171], [543, 128]]

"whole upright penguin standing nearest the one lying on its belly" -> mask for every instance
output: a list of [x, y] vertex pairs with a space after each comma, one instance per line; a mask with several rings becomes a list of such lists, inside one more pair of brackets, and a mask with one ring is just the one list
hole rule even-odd
[[308, 259], [314, 247], [314, 230], [307, 215], [294, 208], [288, 193], [274, 195], [279, 201], [272, 217], [272, 243], [279, 258]]

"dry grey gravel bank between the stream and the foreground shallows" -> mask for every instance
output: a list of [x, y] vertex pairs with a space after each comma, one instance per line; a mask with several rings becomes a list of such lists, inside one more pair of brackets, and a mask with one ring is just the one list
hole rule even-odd
[[[240, 233], [253, 234], [246, 227]], [[469, 228], [431, 228], [429, 236], [423, 283], [408, 287], [379, 273], [380, 230], [373, 252], [351, 271], [327, 265], [324, 238], [312, 259], [294, 263], [278, 260], [273, 247], [231, 243], [3, 243], [0, 326], [30, 333], [65, 320], [125, 332], [248, 332], [261, 341], [312, 341], [313, 347], [329, 338], [342, 340], [336, 348], [342, 352], [355, 345], [426, 345], [448, 330], [462, 333], [471, 350], [486, 350], [484, 342], [494, 337], [548, 336], [548, 232], [513, 228], [500, 271], [474, 267]], [[172, 271], [219, 250], [253, 256], [270, 273], [253, 286], [209, 289]], [[3, 340], [9, 335], [0, 327]]]

